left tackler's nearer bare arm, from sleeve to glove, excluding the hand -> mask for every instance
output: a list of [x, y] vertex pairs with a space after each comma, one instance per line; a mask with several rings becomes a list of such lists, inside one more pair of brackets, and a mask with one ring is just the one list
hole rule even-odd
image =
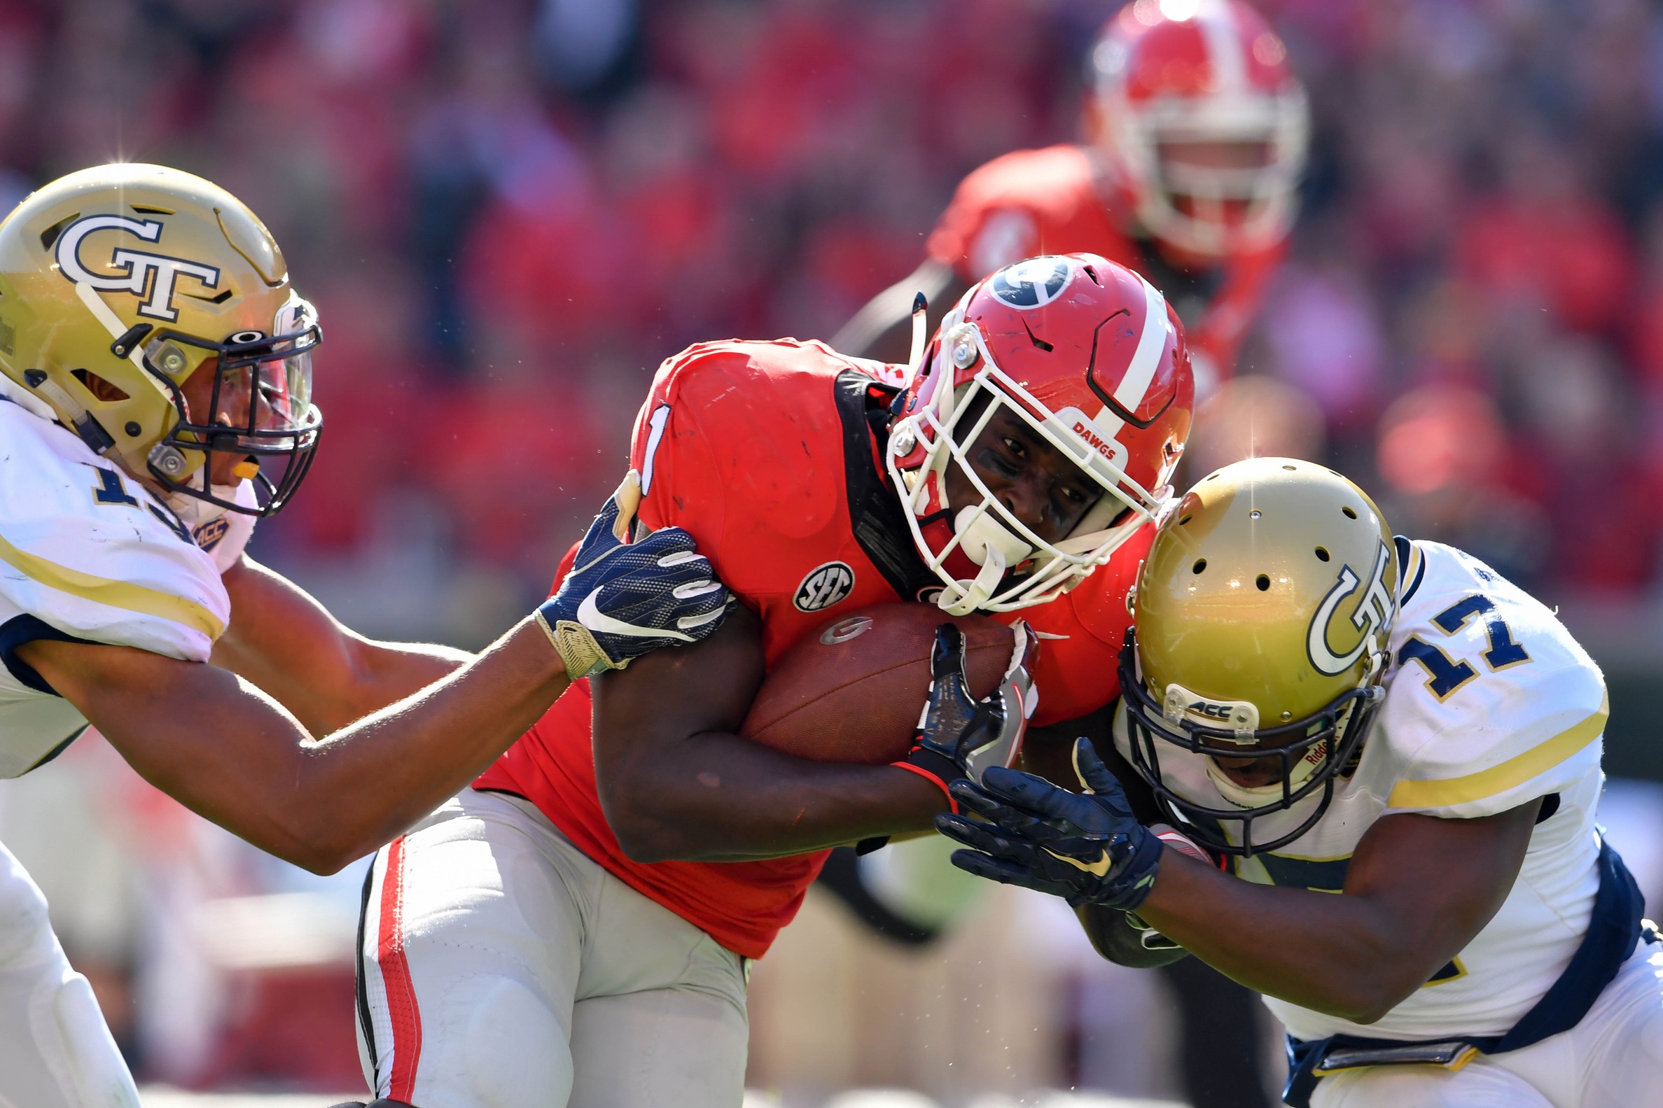
[[477, 776], [565, 691], [534, 621], [432, 688], [313, 738], [218, 666], [38, 640], [18, 655], [153, 786], [278, 857], [329, 874]]

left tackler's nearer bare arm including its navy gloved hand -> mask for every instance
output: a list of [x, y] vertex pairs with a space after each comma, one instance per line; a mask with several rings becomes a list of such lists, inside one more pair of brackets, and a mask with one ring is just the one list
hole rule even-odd
[[632, 473], [534, 616], [432, 688], [321, 739], [218, 666], [80, 640], [17, 651], [146, 781], [271, 854], [333, 872], [476, 777], [574, 678], [720, 626], [725, 590], [685, 532], [620, 542], [635, 488]]

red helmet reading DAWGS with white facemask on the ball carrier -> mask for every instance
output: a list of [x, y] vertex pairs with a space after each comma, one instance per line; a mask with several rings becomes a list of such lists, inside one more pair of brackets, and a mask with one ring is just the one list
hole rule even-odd
[[[1108, 561], [1169, 497], [1194, 400], [1184, 327], [1131, 269], [1049, 254], [971, 286], [913, 370], [886, 457], [918, 552], [945, 585], [938, 603], [956, 615], [1043, 605]], [[1104, 490], [1058, 543], [970, 465], [970, 444], [999, 407]], [[948, 505], [950, 462], [980, 502]]]

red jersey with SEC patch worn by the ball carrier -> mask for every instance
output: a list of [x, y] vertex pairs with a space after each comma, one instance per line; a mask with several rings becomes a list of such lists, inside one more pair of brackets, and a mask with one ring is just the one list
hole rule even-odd
[[[667, 360], [635, 420], [640, 518], [682, 527], [762, 616], [767, 668], [840, 611], [940, 588], [918, 558], [880, 467], [900, 367], [820, 342], [707, 342]], [[1048, 640], [1033, 671], [1034, 723], [1119, 694], [1126, 590], [1154, 528], [1058, 600], [1009, 613]], [[560, 566], [570, 565], [570, 555]], [[825, 851], [760, 862], [634, 862], [595, 792], [589, 683], [577, 681], [476, 787], [530, 799], [589, 857], [723, 947], [762, 957], [797, 914]]]

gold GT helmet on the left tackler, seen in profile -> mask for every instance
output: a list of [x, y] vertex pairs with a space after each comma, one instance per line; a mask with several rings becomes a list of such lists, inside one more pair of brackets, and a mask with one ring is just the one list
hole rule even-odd
[[[81, 169], [0, 223], [0, 370], [95, 452], [171, 492], [251, 515], [288, 502], [323, 430], [321, 337], [266, 226], [190, 173]], [[203, 367], [215, 380], [198, 382], [206, 404], [191, 410], [185, 385]], [[233, 472], [254, 482], [254, 507], [211, 482], [216, 452], [241, 458]]]

